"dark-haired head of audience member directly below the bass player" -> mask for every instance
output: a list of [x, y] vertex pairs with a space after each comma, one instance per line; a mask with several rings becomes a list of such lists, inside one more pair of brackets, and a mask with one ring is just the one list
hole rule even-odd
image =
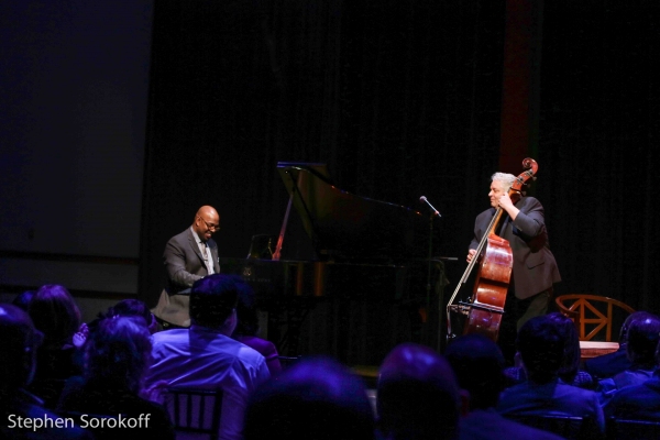
[[557, 322], [547, 316], [531, 318], [518, 331], [516, 346], [528, 380], [544, 384], [559, 375], [563, 364], [564, 340]]

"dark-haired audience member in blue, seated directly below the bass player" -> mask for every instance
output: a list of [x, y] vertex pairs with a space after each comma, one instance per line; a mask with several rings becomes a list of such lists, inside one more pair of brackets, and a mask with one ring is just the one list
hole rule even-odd
[[505, 417], [562, 415], [588, 418], [595, 430], [605, 432], [605, 419], [595, 392], [565, 384], [564, 341], [557, 321], [547, 316], [526, 322], [516, 340], [527, 382], [506, 388], [497, 404]]

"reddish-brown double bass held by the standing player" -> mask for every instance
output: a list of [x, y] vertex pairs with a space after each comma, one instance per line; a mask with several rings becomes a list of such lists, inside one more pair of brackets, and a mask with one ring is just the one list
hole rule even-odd
[[[514, 204], [522, 194], [522, 186], [530, 179], [536, 179], [538, 164], [535, 160], [527, 157], [522, 161], [522, 172], [512, 185], [508, 195]], [[493, 341], [497, 341], [499, 324], [504, 315], [506, 294], [508, 290], [514, 256], [508, 240], [498, 237], [495, 231], [499, 227], [504, 209], [497, 208], [484, 237], [481, 239], [474, 258], [470, 261], [463, 273], [449, 304], [447, 305], [447, 338], [454, 338], [451, 331], [451, 311], [466, 315], [463, 334], [481, 333]], [[479, 272], [474, 282], [474, 290], [469, 302], [453, 305], [453, 301], [468, 280], [475, 265]]]

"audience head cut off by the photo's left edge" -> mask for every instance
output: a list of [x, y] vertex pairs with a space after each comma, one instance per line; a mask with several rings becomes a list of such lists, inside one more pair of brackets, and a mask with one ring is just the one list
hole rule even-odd
[[43, 334], [24, 310], [10, 304], [0, 304], [0, 396], [13, 398], [13, 392], [32, 382]]

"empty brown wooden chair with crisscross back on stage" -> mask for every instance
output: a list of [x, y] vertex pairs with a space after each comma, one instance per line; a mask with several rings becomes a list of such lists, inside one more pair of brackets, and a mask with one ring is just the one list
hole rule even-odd
[[635, 312], [627, 304], [598, 295], [561, 295], [554, 301], [559, 311], [575, 322], [581, 341], [591, 341], [604, 330], [605, 342], [612, 342], [615, 311], [622, 309], [626, 315]]

